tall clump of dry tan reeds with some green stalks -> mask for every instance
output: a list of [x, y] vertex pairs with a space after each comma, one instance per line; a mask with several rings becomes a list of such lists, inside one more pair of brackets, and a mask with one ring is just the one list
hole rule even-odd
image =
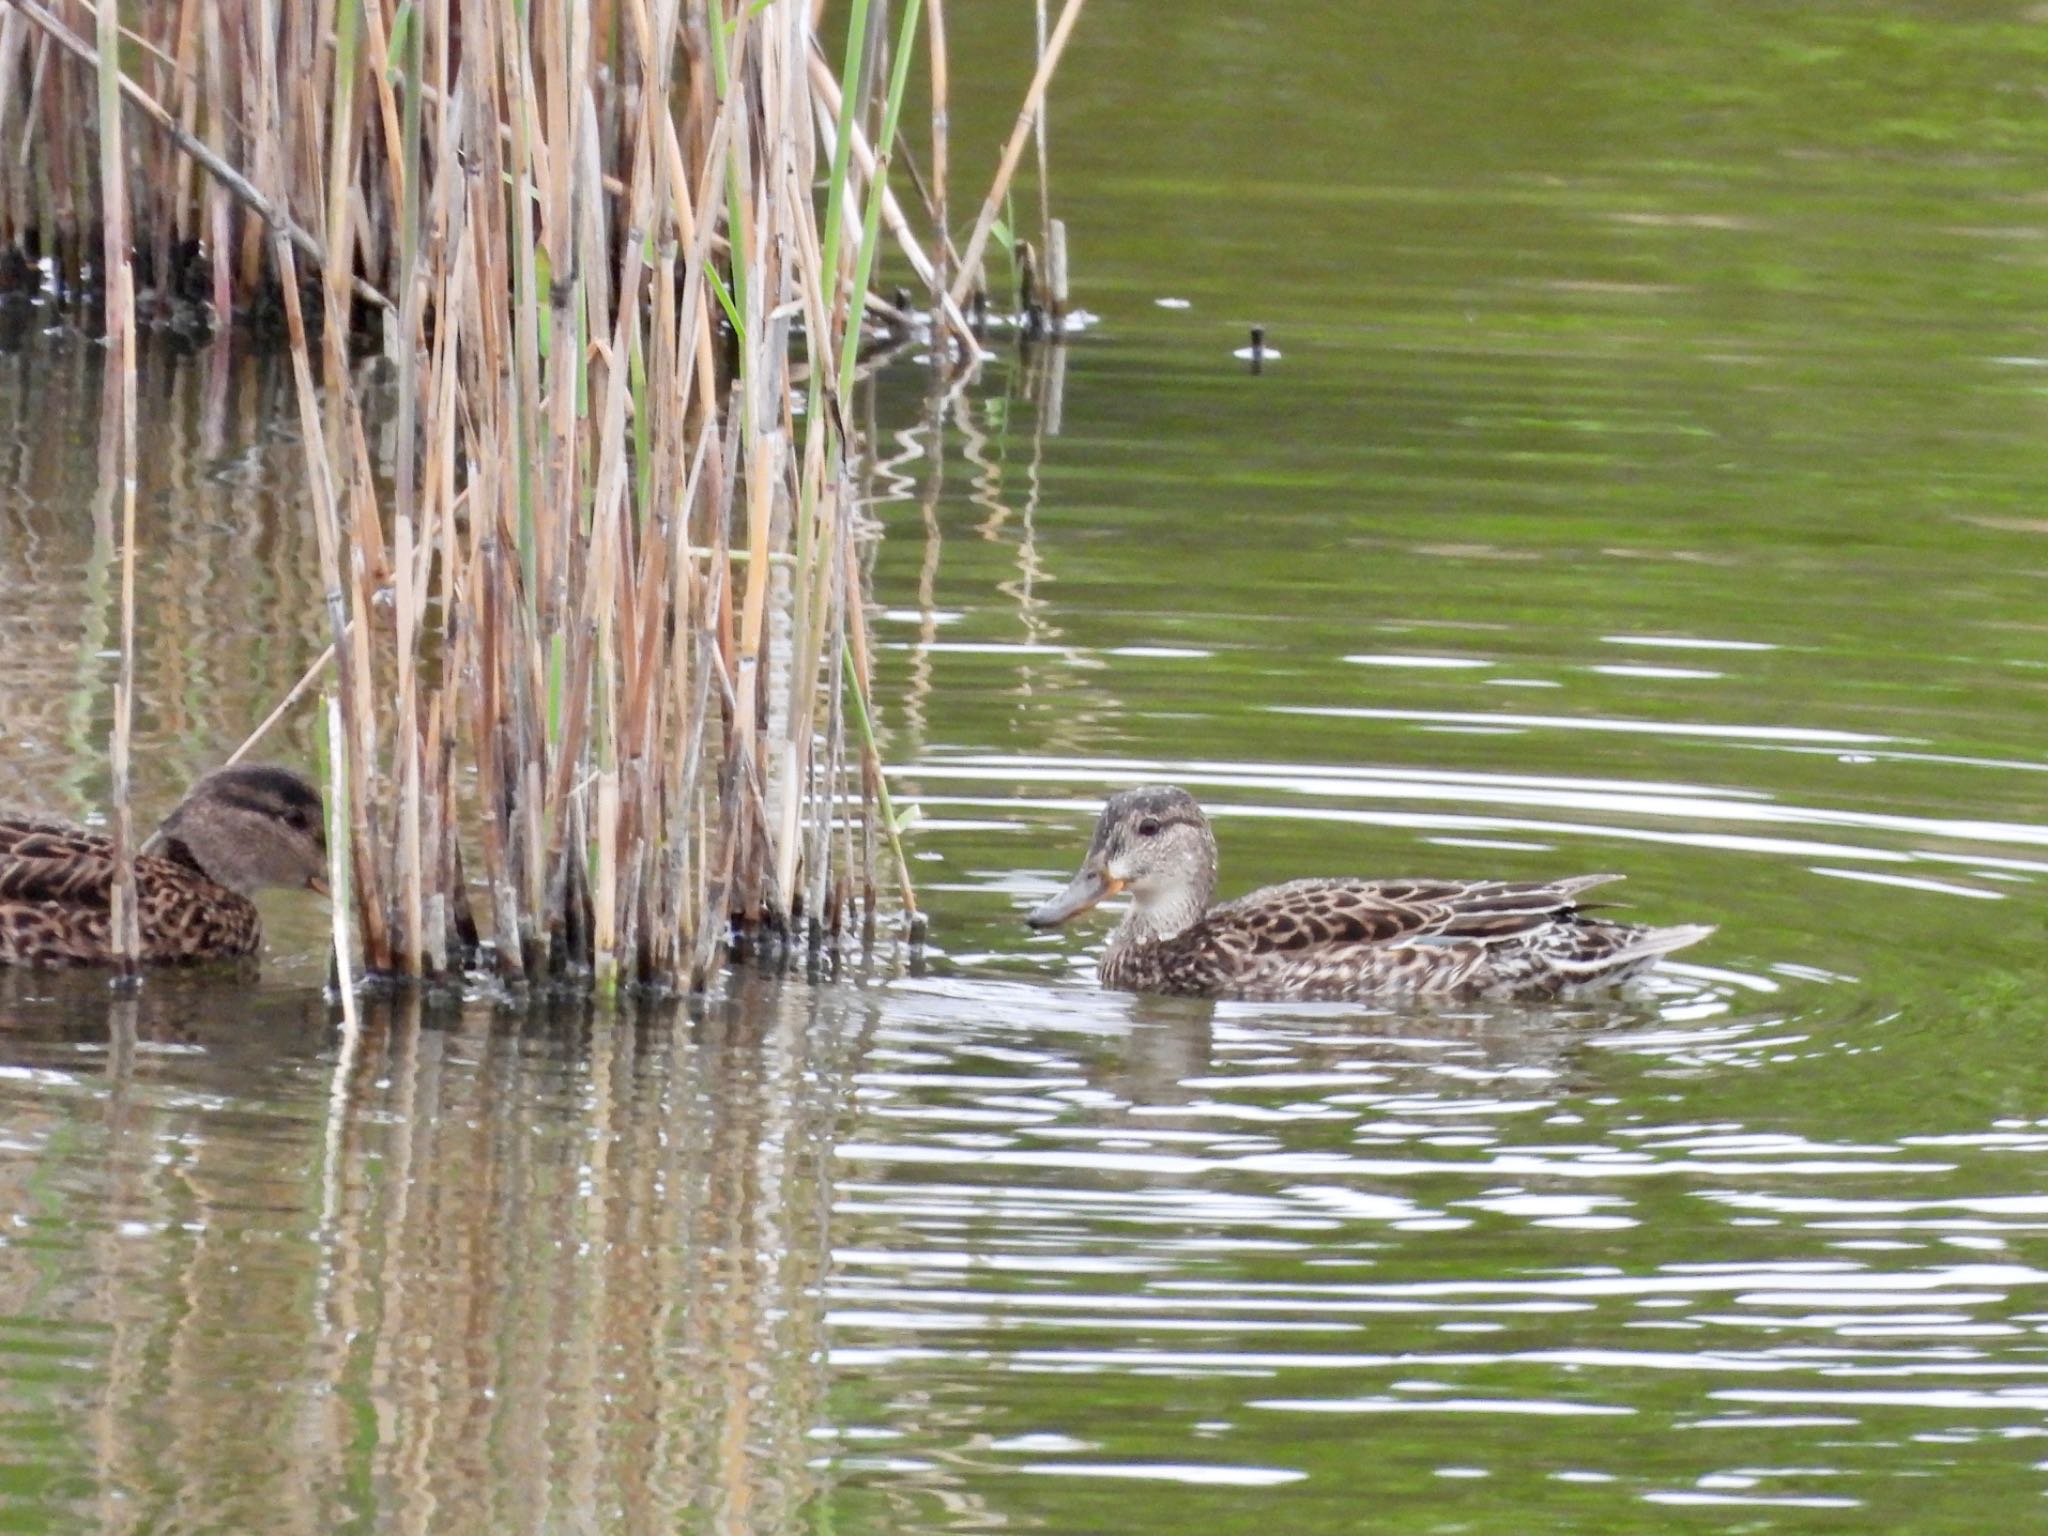
[[96, 195], [160, 305], [283, 324], [373, 971], [483, 928], [508, 979], [692, 985], [729, 922], [872, 920], [879, 868], [915, 920], [852, 547], [868, 287], [887, 227], [936, 356], [977, 356], [963, 301], [1081, 6], [965, 252], [940, 219], [928, 256], [887, 188], [922, 37], [944, 102], [926, 2], [846, 0], [834, 61], [823, 0], [166, 0], [109, 84], [109, 16], [0, 0], [0, 242], [55, 231], [78, 281]]

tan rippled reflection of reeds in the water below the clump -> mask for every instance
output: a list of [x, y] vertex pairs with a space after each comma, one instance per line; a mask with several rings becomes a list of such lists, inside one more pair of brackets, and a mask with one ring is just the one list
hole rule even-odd
[[315, 993], [4, 985], [0, 1520], [807, 1524], [848, 997], [383, 1001], [338, 1061]]

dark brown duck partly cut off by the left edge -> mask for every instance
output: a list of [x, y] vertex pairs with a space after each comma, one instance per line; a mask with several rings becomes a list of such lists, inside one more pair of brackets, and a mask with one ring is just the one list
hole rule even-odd
[[[141, 958], [254, 954], [264, 887], [328, 893], [319, 791], [289, 768], [233, 766], [201, 778], [135, 856]], [[0, 965], [115, 965], [113, 838], [0, 813]]]

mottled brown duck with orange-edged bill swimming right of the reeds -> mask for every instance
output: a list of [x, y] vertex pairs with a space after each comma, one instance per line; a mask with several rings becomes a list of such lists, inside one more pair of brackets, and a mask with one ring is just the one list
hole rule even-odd
[[1130, 909], [1098, 971], [1118, 991], [1546, 1001], [1628, 981], [1714, 932], [1589, 915], [1581, 895], [1616, 879], [1309, 879], [1210, 905], [1217, 838], [1208, 817], [1188, 791], [1149, 784], [1110, 797], [1081, 870], [1026, 922], [1057, 928], [1128, 893]]

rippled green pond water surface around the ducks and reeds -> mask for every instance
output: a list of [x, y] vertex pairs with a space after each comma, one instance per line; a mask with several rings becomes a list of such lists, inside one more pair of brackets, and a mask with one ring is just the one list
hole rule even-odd
[[[948, 14], [991, 164], [1028, 8]], [[0, 1530], [2038, 1528], [2044, 68], [2015, 4], [1096, 0], [1096, 322], [874, 408], [926, 963], [352, 1053], [289, 897], [258, 987], [0, 979]], [[41, 324], [0, 760], [84, 815], [100, 362]], [[319, 621], [285, 375], [147, 389], [156, 809]], [[1104, 995], [1020, 915], [1147, 780], [1231, 893], [1720, 930], [1571, 1010]]]

